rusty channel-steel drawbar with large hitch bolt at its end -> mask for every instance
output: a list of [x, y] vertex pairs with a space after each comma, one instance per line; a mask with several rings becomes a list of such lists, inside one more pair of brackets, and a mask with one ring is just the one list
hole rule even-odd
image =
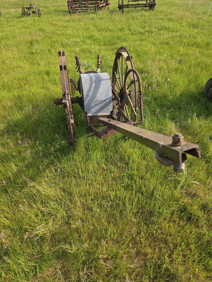
[[[167, 165], [173, 165], [176, 172], [182, 172], [184, 170], [183, 164], [187, 160], [185, 153], [194, 157], [201, 157], [199, 146], [193, 143], [183, 142], [175, 146], [172, 137], [160, 133], [128, 125], [117, 120], [109, 120], [107, 118], [98, 118], [98, 122], [155, 150], [159, 154], [156, 155], [156, 159], [164, 165], [169, 159], [170, 162]], [[163, 159], [162, 156], [166, 157], [166, 159]], [[159, 158], [161, 160], [159, 160]]]

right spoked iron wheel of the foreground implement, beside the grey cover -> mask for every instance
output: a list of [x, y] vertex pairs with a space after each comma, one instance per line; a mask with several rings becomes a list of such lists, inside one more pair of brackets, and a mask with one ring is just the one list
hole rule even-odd
[[[115, 54], [112, 69], [112, 93], [114, 96], [113, 111], [117, 120], [143, 122], [141, 80], [134, 69], [132, 57], [125, 47], [120, 47]], [[140, 116], [137, 114], [138, 104], [140, 104]]]

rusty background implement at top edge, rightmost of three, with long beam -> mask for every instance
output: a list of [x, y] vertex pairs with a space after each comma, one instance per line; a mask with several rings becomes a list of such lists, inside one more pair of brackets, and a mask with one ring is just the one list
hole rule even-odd
[[[124, 4], [124, 0], [118, 0], [118, 9], [119, 11], [122, 10], [124, 13], [124, 9], [128, 8], [149, 8], [151, 11], [155, 10], [155, 0], [126, 0], [127, 4]], [[141, 3], [142, 2], [142, 3]]]

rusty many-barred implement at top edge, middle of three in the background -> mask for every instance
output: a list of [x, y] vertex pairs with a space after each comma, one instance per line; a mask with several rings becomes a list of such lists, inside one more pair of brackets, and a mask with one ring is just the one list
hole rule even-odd
[[88, 11], [105, 10], [106, 6], [109, 10], [110, 1], [109, 0], [68, 0], [68, 10], [69, 14], [82, 13]]

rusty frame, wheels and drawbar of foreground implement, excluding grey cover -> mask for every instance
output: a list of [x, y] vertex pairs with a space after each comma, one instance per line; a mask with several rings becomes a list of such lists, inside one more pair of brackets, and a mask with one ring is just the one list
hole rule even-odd
[[[120, 69], [118, 68], [118, 60], [124, 58], [127, 62], [125, 78], [121, 79]], [[81, 62], [78, 56], [76, 59], [76, 68], [80, 74], [83, 74], [84, 71], [81, 67]], [[161, 164], [165, 166], [173, 165], [173, 169], [175, 172], [183, 172], [184, 165], [187, 161], [186, 154], [193, 155], [195, 157], [200, 158], [200, 152], [198, 145], [193, 143], [184, 142], [184, 137], [180, 133], [175, 133], [173, 137], [169, 137], [157, 132], [152, 132], [149, 130], [145, 130], [140, 127], [135, 127], [136, 124], [143, 122], [143, 93], [141, 87], [140, 76], [137, 71], [133, 68], [132, 58], [125, 47], [121, 47], [118, 49], [115, 55], [115, 62], [113, 66], [113, 76], [112, 76], [112, 94], [113, 94], [113, 111], [110, 114], [99, 116], [99, 115], [90, 115], [88, 116], [84, 110], [84, 101], [83, 97], [71, 97], [70, 88], [69, 88], [69, 80], [67, 73], [67, 65], [65, 59], [64, 51], [59, 51], [59, 65], [60, 65], [60, 75], [61, 75], [61, 83], [62, 83], [62, 91], [63, 98], [55, 99], [54, 103], [56, 105], [63, 105], [65, 108], [66, 118], [67, 118], [67, 126], [69, 130], [69, 136], [71, 144], [74, 145], [76, 142], [76, 134], [74, 129], [74, 118], [72, 112], [72, 104], [78, 103], [80, 108], [84, 111], [85, 121], [87, 123], [88, 129], [92, 131], [92, 133], [88, 134], [87, 137], [97, 136], [98, 138], [105, 138], [111, 135], [121, 133], [143, 145], [146, 147], [155, 150], [155, 159], [158, 160]], [[87, 71], [86, 73], [97, 73], [100, 72], [100, 67], [103, 68], [101, 56], [97, 56], [97, 70], [96, 71]], [[117, 77], [117, 70], [119, 73], [119, 78]], [[121, 70], [123, 72], [123, 70]], [[124, 112], [124, 105], [129, 103], [131, 105], [134, 100], [132, 97], [130, 98], [128, 95], [127, 85], [126, 85], [126, 77], [130, 75], [130, 85], [131, 82], [138, 83], [138, 96], [140, 97], [140, 114], [141, 120], [137, 121], [130, 120], [129, 115]], [[117, 81], [120, 80], [120, 87], [118, 92], [116, 90]], [[77, 83], [74, 82], [73, 79], [70, 79], [72, 94], [74, 94], [74, 90], [78, 90], [80, 92], [80, 78]], [[138, 90], [138, 89], [137, 89]], [[135, 93], [137, 93], [135, 90]], [[125, 95], [122, 95], [122, 92], [125, 92]], [[135, 98], [136, 100], [137, 98]], [[135, 102], [136, 104], [136, 102]], [[135, 113], [136, 116], [136, 113]], [[120, 120], [122, 117], [122, 121]], [[102, 128], [103, 127], [103, 128]]]

